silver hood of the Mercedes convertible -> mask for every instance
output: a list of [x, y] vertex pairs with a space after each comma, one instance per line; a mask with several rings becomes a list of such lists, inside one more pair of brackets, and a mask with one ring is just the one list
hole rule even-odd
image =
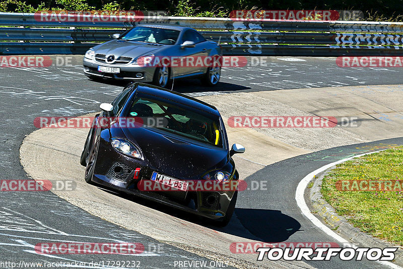
[[113, 54], [115, 57], [125, 56], [137, 58], [140, 56], [145, 56], [152, 54], [157, 50], [163, 49], [165, 46], [150, 45], [147, 43], [131, 42], [131, 41], [118, 41], [111, 40], [106, 43], [100, 44], [94, 47], [95, 53], [110, 55]]

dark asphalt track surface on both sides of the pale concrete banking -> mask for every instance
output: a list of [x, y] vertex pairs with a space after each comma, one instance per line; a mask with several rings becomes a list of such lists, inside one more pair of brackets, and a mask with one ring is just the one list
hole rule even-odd
[[[71, 66], [50, 66], [46, 69], [0, 69], [0, 112], [3, 119], [0, 123], [2, 142], [0, 164], [3, 167], [1, 179], [28, 178], [20, 164], [19, 149], [24, 138], [37, 130], [33, 125], [34, 118], [79, 116], [96, 112], [99, 110], [100, 103], [111, 102], [125, 85], [119, 82], [88, 80], [83, 75], [81, 59], [82, 56], [72, 56]], [[335, 58], [268, 57], [266, 65], [225, 68], [222, 71], [221, 82], [215, 88], [205, 88], [200, 86], [197, 80], [191, 80], [175, 82], [174, 90], [197, 97], [238, 92], [342, 86], [357, 86], [365, 89], [371, 85], [401, 84], [402, 77], [399, 69], [340, 68], [335, 64]], [[55, 143], [66, 142], [56, 141]], [[84, 141], [81, 139], [75, 141], [75, 138], [71, 138], [68, 143], [77, 143], [82, 147]], [[262, 166], [262, 169], [245, 180], [267, 180], [268, 190], [245, 190], [240, 193], [235, 215], [241, 225], [237, 226], [237, 229], [232, 229], [233, 226], [230, 224], [226, 228], [217, 230], [264, 242], [334, 242], [334, 239], [323, 234], [301, 214], [295, 201], [296, 187], [299, 181], [311, 171], [343, 158], [379, 150], [377, 146], [380, 144], [403, 145], [403, 139], [331, 148]], [[47, 167], [42, 169], [46, 170]], [[101, 258], [94, 254], [52, 256], [35, 252], [34, 246], [38, 242], [64, 240], [143, 243], [146, 251], [129, 259], [140, 261], [140, 267], [168, 268], [173, 267], [177, 260], [211, 261], [205, 257], [206, 255], [197, 255], [191, 251], [161, 243], [149, 236], [93, 216], [50, 192], [44, 194], [2, 191], [0, 197], [2, 199], [2, 209], [0, 209], [2, 257], [0, 261], [8, 260], [18, 263], [21, 260], [43, 262], [63, 259], [70, 262], [98, 262], [117, 259], [113, 255], [103, 255]], [[209, 228], [215, 229], [210, 226]], [[158, 248], [163, 251], [155, 251]], [[378, 262], [366, 260], [350, 261], [348, 264], [339, 259], [332, 259], [331, 262], [307, 263], [316, 268], [385, 267]], [[114, 266], [120, 267], [116, 265]], [[237, 266], [252, 267], [253, 265], [237, 264]], [[8, 268], [9, 266], [0, 267]]]

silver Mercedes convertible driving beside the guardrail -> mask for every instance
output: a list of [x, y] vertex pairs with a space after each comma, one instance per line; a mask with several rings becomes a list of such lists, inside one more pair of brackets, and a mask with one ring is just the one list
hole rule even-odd
[[90, 48], [84, 73], [90, 79], [152, 82], [167, 87], [173, 79], [200, 78], [207, 86], [221, 76], [221, 47], [196, 30], [181, 26], [142, 25]]

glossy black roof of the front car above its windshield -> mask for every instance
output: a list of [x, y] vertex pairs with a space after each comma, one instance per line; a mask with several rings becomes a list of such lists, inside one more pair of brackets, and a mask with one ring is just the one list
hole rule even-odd
[[144, 84], [144, 83], [135, 83], [135, 84], [138, 85], [137, 92], [150, 94], [150, 95], [154, 95], [157, 97], [167, 98], [172, 101], [182, 103], [182, 104], [191, 106], [193, 108], [203, 110], [205, 112], [220, 116], [220, 113], [218, 112], [218, 110], [215, 106], [205, 103], [203, 101], [197, 100], [193, 97], [190, 97], [190, 96], [178, 93], [178, 92], [174, 92], [171, 90], [167, 90], [164, 88], [160, 88], [157, 86], [149, 85], [149, 84]]

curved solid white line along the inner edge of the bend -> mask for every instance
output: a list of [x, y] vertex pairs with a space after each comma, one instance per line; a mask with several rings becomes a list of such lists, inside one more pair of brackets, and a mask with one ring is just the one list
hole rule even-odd
[[[329, 163], [325, 166], [320, 167], [319, 169], [316, 169], [315, 171], [309, 173], [308, 175], [306, 175], [298, 184], [297, 186], [297, 190], [295, 191], [295, 199], [297, 200], [297, 205], [298, 207], [301, 209], [302, 214], [307, 217], [316, 227], [318, 227], [320, 230], [322, 230], [325, 234], [327, 234], [330, 237], [333, 237], [335, 240], [339, 241], [340, 243], [348, 243], [351, 245], [351, 247], [353, 248], [357, 248], [357, 246], [355, 246], [354, 244], [350, 243], [348, 240], [344, 239], [343, 237], [341, 237], [340, 235], [338, 235], [337, 233], [333, 232], [329, 227], [327, 227], [326, 225], [324, 225], [322, 222], [320, 222], [309, 210], [308, 206], [305, 203], [305, 199], [304, 199], [304, 192], [305, 189], [308, 185], [308, 183], [312, 180], [314, 175], [317, 175], [323, 171], [325, 171], [326, 169], [329, 169], [330, 167], [346, 162], [346, 161], [350, 161], [354, 158], [358, 158], [364, 155], [368, 155], [368, 154], [373, 154], [373, 153], [377, 153], [380, 151], [375, 151], [375, 152], [369, 152], [369, 153], [364, 153], [364, 154], [360, 154], [357, 156], [353, 156], [350, 158], [346, 158], [337, 162], [333, 162], [333, 163]], [[390, 268], [393, 269], [403, 269], [402, 267], [389, 262], [389, 261], [378, 261], [379, 263], [388, 266]]]

